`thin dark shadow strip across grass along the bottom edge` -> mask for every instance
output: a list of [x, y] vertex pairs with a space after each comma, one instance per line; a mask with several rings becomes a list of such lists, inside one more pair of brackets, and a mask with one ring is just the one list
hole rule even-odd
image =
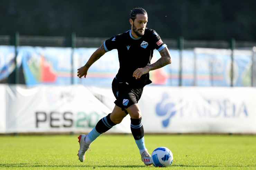
[[[143, 168], [144, 165], [99, 165], [99, 166], [92, 166], [92, 165], [34, 165], [30, 163], [0, 163], [0, 167], [91, 167], [91, 168]], [[230, 165], [230, 166], [214, 166], [214, 165], [179, 165], [174, 164], [172, 167], [256, 167], [256, 165], [249, 165], [249, 166], [241, 166], [241, 165]]]

